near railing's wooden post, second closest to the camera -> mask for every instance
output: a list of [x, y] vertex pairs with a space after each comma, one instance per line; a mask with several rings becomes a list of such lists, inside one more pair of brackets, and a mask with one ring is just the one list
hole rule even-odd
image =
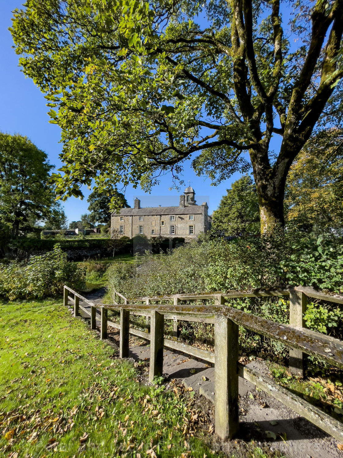
[[152, 310], [150, 316], [149, 382], [152, 382], [155, 376], [161, 376], [163, 374], [163, 331], [164, 315], [156, 310]]

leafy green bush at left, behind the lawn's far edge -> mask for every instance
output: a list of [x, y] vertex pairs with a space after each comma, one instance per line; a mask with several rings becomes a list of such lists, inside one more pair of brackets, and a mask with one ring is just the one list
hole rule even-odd
[[32, 256], [29, 262], [11, 262], [0, 269], [0, 294], [9, 300], [42, 299], [62, 294], [63, 285], [83, 286], [85, 271], [67, 261], [59, 244], [44, 256]]

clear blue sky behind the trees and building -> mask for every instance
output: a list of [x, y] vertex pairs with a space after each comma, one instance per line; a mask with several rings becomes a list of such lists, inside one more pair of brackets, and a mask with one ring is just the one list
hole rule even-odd
[[[10, 32], [7, 30], [11, 25], [11, 11], [20, 7], [20, 0], [5, 0], [0, 2], [0, 131], [10, 134], [18, 133], [27, 136], [40, 149], [48, 154], [51, 164], [56, 169], [61, 166], [59, 153], [62, 145], [59, 143], [59, 126], [49, 124], [47, 115], [48, 107], [43, 94], [33, 84], [31, 79], [25, 78], [18, 66], [18, 56], [15, 54]], [[220, 199], [226, 194], [226, 189], [237, 180], [240, 175], [232, 175], [230, 180], [225, 180], [219, 186], [211, 186], [208, 178], [197, 177], [190, 167], [190, 161], [184, 166], [183, 179], [188, 184], [190, 180], [196, 192], [198, 204], [207, 201], [209, 212], [218, 206]], [[155, 207], [157, 205], [178, 205], [177, 191], [169, 191], [172, 185], [171, 175], [161, 178], [161, 184], [155, 186], [151, 194], [144, 194], [140, 189], [126, 190], [126, 199], [129, 205], [133, 205], [133, 199], [139, 197], [142, 207]], [[87, 196], [91, 191], [86, 187], [82, 190], [85, 198], [83, 201], [71, 197], [64, 202], [64, 211], [70, 221], [78, 220], [82, 213], [87, 212]]]

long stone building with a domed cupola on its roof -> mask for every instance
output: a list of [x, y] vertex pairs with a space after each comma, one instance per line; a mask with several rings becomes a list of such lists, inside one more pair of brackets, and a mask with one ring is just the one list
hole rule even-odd
[[201, 232], [209, 230], [208, 206], [206, 202], [197, 205], [191, 186], [180, 196], [178, 207], [140, 207], [140, 200], [134, 200], [134, 208], [122, 208], [120, 213], [111, 215], [111, 233], [130, 239], [137, 234], [147, 237], [183, 237], [195, 239]]

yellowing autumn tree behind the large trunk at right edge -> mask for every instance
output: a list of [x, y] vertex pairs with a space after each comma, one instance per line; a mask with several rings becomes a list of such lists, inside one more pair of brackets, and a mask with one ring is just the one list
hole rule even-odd
[[343, 232], [343, 131], [331, 129], [307, 142], [289, 170], [288, 227]]

